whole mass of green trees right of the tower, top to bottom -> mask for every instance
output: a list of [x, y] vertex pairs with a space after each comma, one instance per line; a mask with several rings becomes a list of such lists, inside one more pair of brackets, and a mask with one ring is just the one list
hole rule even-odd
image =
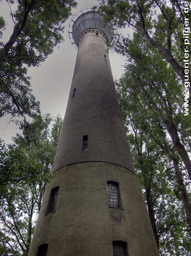
[[[126, 56], [125, 75], [117, 83], [119, 104], [156, 241], [162, 255], [189, 255], [191, 120], [184, 115], [182, 83], [184, 2], [100, 2], [106, 21], [134, 32], [116, 33], [110, 47]], [[187, 49], [190, 54], [190, 45]]]

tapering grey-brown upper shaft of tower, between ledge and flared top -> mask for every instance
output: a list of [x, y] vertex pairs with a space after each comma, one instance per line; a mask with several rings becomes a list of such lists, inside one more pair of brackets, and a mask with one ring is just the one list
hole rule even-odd
[[[103, 36], [92, 29], [80, 39], [52, 172], [83, 161], [116, 163], [135, 172]], [[82, 151], [84, 135], [88, 135], [86, 152]]]

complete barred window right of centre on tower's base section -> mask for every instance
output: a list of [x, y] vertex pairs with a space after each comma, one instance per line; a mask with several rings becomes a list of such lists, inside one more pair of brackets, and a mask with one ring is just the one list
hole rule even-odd
[[108, 181], [107, 193], [108, 193], [109, 207], [119, 208], [120, 207], [119, 184], [117, 182]]

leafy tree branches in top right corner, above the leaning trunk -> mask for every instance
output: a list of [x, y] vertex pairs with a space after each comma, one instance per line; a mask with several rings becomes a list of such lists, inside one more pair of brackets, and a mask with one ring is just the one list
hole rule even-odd
[[[161, 58], [171, 65], [181, 81], [187, 82], [191, 92], [191, 76], [187, 67], [190, 56], [190, 33], [187, 32], [191, 17], [183, 11], [183, 8], [188, 8], [188, 1], [100, 1], [99, 12], [104, 15], [105, 20], [111, 21], [117, 28], [131, 27], [134, 31], [139, 31], [160, 52]], [[183, 31], [188, 38], [184, 38]], [[112, 45], [117, 44], [116, 50], [127, 54], [128, 38], [119, 38], [117, 35], [115, 39]]]

